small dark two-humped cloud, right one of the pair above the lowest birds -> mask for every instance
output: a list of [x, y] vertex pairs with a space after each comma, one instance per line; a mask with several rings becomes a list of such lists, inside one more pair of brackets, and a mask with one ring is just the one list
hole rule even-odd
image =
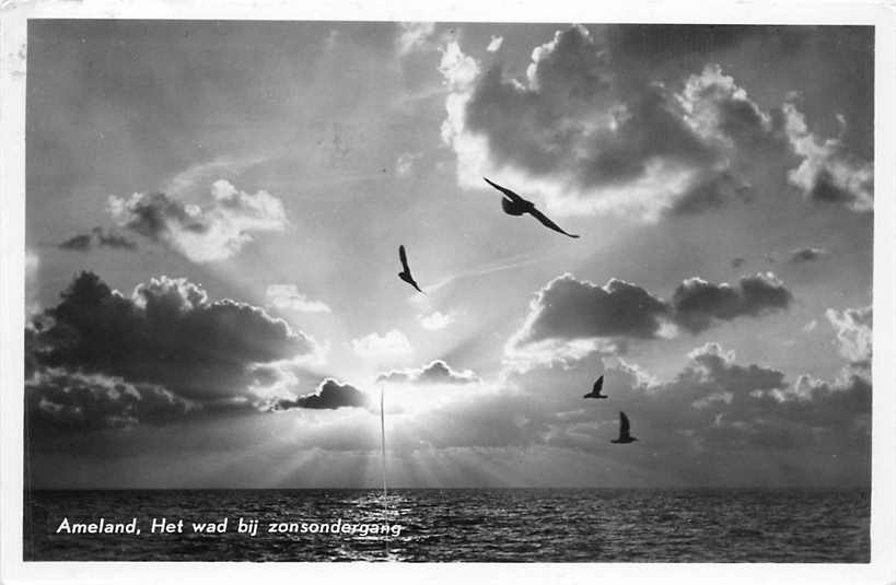
[[734, 286], [699, 278], [684, 281], [672, 296], [674, 320], [696, 334], [715, 321], [757, 316], [790, 306], [793, 295], [771, 272], [744, 277]]

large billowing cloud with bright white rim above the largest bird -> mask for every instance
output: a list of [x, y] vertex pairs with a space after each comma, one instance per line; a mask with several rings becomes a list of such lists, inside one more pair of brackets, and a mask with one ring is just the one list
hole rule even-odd
[[582, 26], [535, 48], [525, 81], [505, 79], [499, 66], [480, 75], [453, 45], [442, 73], [453, 90], [442, 137], [466, 187], [500, 169], [526, 180], [552, 211], [625, 209], [655, 218], [706, 187], [707, 169], [720, 164], [673, 94], [660, 85], [629, 92]]

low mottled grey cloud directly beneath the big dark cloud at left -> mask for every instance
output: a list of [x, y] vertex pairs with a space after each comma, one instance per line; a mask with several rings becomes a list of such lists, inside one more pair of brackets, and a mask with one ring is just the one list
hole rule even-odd
[[45, 370], [25, 383], [28, 432], [36, 436], [163, 423], [197, 408], [161, 386], [102, 374]]

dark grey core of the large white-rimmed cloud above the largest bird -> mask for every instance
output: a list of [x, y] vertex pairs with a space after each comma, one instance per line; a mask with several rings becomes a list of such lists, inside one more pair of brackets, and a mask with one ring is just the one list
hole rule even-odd
[[488, 70], [467, 103], [468, 129], [488, 137], [498, 164], [536, 174], [562, 168], [583, 187], [636, 178], [656, 156], [713, 159], [661, 86], [626, 96], [616, 130], [589, 130], [583, 118], [621, 97], [601, 48], [587, 30], [573, 26], [535, 50], [527, 85], [505, 80], [499, 67]]

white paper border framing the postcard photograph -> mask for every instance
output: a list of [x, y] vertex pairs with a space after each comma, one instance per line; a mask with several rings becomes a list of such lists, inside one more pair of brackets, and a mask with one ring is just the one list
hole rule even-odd
[[[351, 580], [415, 585], [475, 580], [480, 583], [578, 583], [661, 581], [728, 584], [896, 583], [896, 368], [893, 335], [896, 299], [893, 261], [894, 185], [896, 185], [896, 3], [853, 1], [666, 1], [626, 0], [452, 0], [410, 3], [399, 0], [339, 0], [294, 4], [287, 0], [162, 1], [126, 0], [21, 2], [0, 0], [0, 583], [295, 583], [304, 580]], [[668, 564], [668, 563], [22, 563], [22, 421], [24, 375], [24, 136], [27, 19], [178, 19], [178, 20], [319, 20], [440, 22], [583, 22], [583, 23], [738, 23], [865, 24], [876, 26], [875, 50], [875, 221], [874, 348], [872, 432], [872, 519], [870, 564]]]

